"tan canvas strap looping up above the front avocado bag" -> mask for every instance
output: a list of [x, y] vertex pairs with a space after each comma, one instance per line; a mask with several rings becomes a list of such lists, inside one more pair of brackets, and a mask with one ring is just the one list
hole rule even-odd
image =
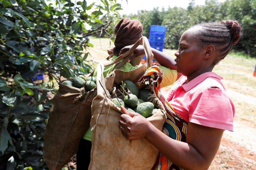
[[[129, 54], [131, 54], [139, 45], [143, 45], [143, 48], [144, 48], [144, 51], [145, 51], [145, 54], [146, 54], [147, 68], [151, 67], [153, 65], [154, 55], [153, 55], [153, 53], [151, 51], [151, 48], [150, 48], [150, 45], [149, 45], [147, 37], [143, 36], [132, 46], [132, 48], [130, 48], [124, 54], [120, 55], [121, 57], [119, 56], [121, 59], [123, 59], [125, 57], [126, 58], [121, 63], [119, 63], [116, 66], [116, 68], [119, 67], [119, 66], [121, 67], [122, 65], [124, 65], [124, 63], [126, 63], [128, 61], [128, 59], [129, 59], [129, 57], [127, 57], [127, 56], [129, 56]], [[118, 59], [119, 57], [117, 57], [116, 59]], [[115, 60], [113, 60], [113, 61], [115, 61]], [[120, 60], [118, 60], [118, 61], [120, 61]], [[109, 63], [112, 63], [112, 62], [109, 62]], [[114, 62], [114, 63], [116, 63], [116, 62]], [[109, 65], [111, 65], [111, 64], [109, 64]], [[99, 64], [98, 67], [97, 67], [98, 71], [97, 71], [97, 76], [96, 76], [96, 80], [97, 80], [96, 84], [97, 84], [97, 91], [100, 91], [100, 92], [104, 92], [105, 89], [106, 89], [106, 85], [105, 85], [105, 81], [104, 81], [104, 77], [103, 77], [103, 71], [104, 71], [104, 67], [105, 66], [108, 66], [108, 64], [102, 63], [102, 64]], [[108, 76], [110, 76], [110, 75], [111, 74], [108, 74]]]

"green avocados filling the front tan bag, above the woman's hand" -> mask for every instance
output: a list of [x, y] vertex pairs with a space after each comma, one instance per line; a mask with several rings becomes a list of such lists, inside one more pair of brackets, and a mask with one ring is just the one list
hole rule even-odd
[[[154, 115], [158, 111], [158, 109], [154, 109], [154, 104], [148, 101], [148, 97], [151, 95], [148, 89], [138, 90], [138, 87], [130, 80], [122, 81], [122, 85], [120, 86], [123, 92], [118, 91], [123, 93], [123, 100], [117, 98], [117, 96], [112, 99], [117, 107], [123, 105], [127, 110], [137, 112], [145, 118]], [[126, 87], [131, 94], [127, 93], [124, 87]]]

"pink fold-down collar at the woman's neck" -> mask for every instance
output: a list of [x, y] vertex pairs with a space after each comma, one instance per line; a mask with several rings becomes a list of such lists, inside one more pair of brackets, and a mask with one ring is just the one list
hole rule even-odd
[[[205, 72], [205, 73], [197, 76], [196, 78], [194, 78], [193, 80], [191, 80], [187, 84], [182, 85], [182, 87], [186, 92], [188, 92], [190, 89], [192, 89], [193, 87], [198, 85], [200, 82], [202, 82], [207, 77], [214, 77], [214, 78], [218, 78], [220, 80], [223, 79], [220, 75], [218, 75], [214, 72]], [[187, 78], [186, 78], [186, 81], [187, 81]]]

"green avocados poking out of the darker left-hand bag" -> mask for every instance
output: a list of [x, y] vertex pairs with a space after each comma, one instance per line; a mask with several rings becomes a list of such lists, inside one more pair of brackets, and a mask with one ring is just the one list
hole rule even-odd
[[84, 100], [86, 92], [91, 91], [96, 87], [96, 78], [93, 76], [89, 76], [87, 78], [84, 75], [79, 75], [71, 78], [70, 80], [65, 80], [62, 82], [63, 85], [69, 85], [76, 88], [84, 87], [85, 93], [79, 100]]

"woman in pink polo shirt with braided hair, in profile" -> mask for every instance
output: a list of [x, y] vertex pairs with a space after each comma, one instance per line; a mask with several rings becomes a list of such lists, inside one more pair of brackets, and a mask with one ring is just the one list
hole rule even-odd
[[[181, 35], [175, 66], [182, 76], [168, 95], [165, 108], [171, 109], [162, 131], [138, 113], [121, 107], [122, 134], [128, 139], [145, 138], [160, 151], [152, 169], [209, 168], [224, 130], [233, 130], [235, 114], [233, 102], [220, 81], [222, 77], [212, 69], [241, 36], [241, 27], [235, 20], [199, 24]], [[143, 51], [139, 47], [134, 55], [140, 56]], [[168, 67], [161, 61], [170, 56], [157, 51], [153, 54]]]

